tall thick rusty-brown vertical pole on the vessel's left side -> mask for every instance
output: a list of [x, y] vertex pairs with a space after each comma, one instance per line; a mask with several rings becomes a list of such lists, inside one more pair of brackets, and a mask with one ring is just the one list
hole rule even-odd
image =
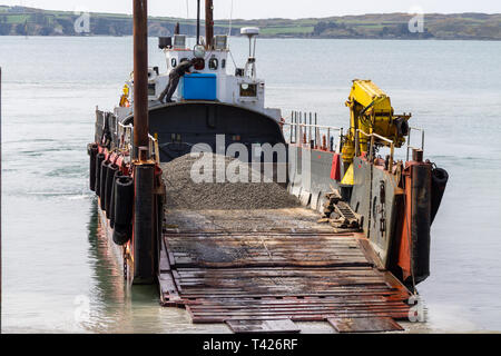
[[[134, 146], [148, 147], [148, 7], [134, 0]], [[149, 157], [148, 157], [149, 158]]]

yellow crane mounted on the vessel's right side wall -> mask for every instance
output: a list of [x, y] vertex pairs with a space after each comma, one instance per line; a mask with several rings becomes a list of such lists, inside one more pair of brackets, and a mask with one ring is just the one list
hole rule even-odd
[[[411, 113], [394, 115], [390, 97], [371, 80], [353, 80], [346, 106], [350, 108], [351, 118], [350, 131], [343, 142], [345, 167], [348, 167], [355, 157], [356, 135], [358, 135], [358, 152], [369, 150], [372, 134], [393, 141], [394, 147], [402, 147], [405, 142]], [[390, 146], [390, 144], [375, 140], [375, 146]]]

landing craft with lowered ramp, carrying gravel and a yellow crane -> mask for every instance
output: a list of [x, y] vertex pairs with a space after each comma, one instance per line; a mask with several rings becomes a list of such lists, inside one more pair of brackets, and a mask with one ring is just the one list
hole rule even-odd
[[[235, 333], [295, 333], [294, 322], [318, 320], [340, 333], [401, 330], [395, 320], [409, 320], [407, 300], [430, 275], [430, 227], [448, 181], [445, 170], [424, 159], [424, 131], [410, 126], [410, 113], [395, 113], [371, 80], [352, 83], [347, 129], [299, 111], [284, 119], [265, 106], [258, 28], [242, 29], [248, 58], [230, 72], [228, 36], [213, 34], [210, 0], [207, 37], [199, 36], [198, 18], [197, 44], [188, 48], [177, 28], [159, 39], [167, 72], [148, 68], [146, 2], [134, 1], [134, 73], [119, 107], [96, 111], [88, 147], [90, 189], [127, 281], [157, 284], [161, 305], [183, 306], [194, 323], [225, 323]], [[160, 102], [169, 73], [193, 58], [199, 60], [174, 101]], [[416, 134], [421, 145], [412, 147]], [[214, 152], [239, 145], [247, 154], [235, 158], [273, 172], [285, 166], [281, 191], [301, 205], [246, 208], [248, 197], [225, 194], [230, 182], [205, 206], [183, 201], [196, 197], [196, 185], [186, 180], [173, 191], [179, 182], [171, 179], [199, 144]], [[281, 144], [285, 159], [253, 149]], [[394, 158], [399, 148], [406, 149], [404, 161]], [[240, 209], [225, 208], [228, 198]], [[190, 208], [173, 208], [176, 199]]]

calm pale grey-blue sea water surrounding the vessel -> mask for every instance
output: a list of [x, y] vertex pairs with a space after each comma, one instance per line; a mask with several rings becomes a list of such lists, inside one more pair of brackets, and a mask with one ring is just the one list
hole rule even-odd
[[[165, 69], [157, 40], [149, 63]], [[235, 61], [247, 55], [232, 39]], [[0, 37], [3, 333], [204, 333], [155, 287], [125, 288], [88, 189], [95, 108], [112, 109], [132, 68], [130, 37]], [[262, 39], [266, 105], [348, 127], [355, 78], [372, 79], [426, 130], [450, 174], [419, 286], [425, 332], [501, 330], [501, 42]], [[328, 328], [327, 328], [328, 329]], [[326, 332], [323, 326], [311, 332]]]

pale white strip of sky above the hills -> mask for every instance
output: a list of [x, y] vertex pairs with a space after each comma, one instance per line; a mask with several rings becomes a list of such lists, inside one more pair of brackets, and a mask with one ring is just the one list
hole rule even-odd
[[[202, 0], [204, 9], [204, 0]], [[215, 18], [322, 18], [385, 12], [501, 13], [500, 0], [214, 0]], [[196, 17], [196, 0], [149, 0], [150, 16]], [[131, 13], [132, 0], [0, 0], [0, 4], [49, 10]], [[420, 10], [421, 9], [421, 10]], [[204, 10], [202, 10], [204, 14]]]

